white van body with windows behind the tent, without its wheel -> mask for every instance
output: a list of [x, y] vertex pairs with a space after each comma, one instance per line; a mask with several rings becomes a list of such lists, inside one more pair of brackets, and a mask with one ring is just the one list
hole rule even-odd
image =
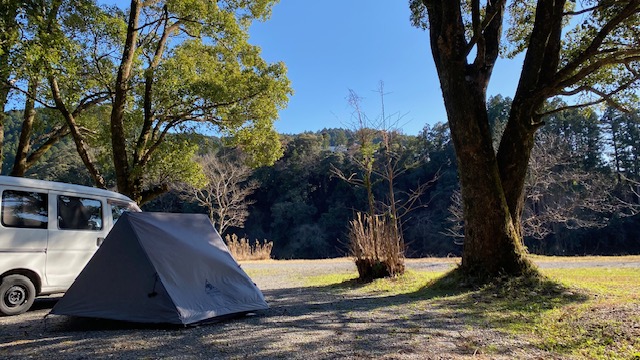
[[[18, 195], [12, 196], [27, 193], [44, 195], [39, 199], [47, 202], [46, 212], [44, 206], [40, 208], [41, 215], [36, 216], [27, 214], [33, 208], [21, 210], [30, 204], [25, 206]], [[114, 211], [115, 216], [124, 208], [140, 211], [131, 199], [116, 192], [8, 176], [0, 176], [0, 197], [0, 277], [29, 274], [35, 277], [32, 280], [37, 282], [39, 295], [64, 292], [71, 286], [109, 233]], [[70, 228], [63, 223], [64, 219], [76, 217], [75, 213], [62, 214], [70, 208], [65, 207], [70, 199], [82, 200], [76, 202], [79, 205], [74, 209], [92, 207], [91, 218], [80, 222], [89, 224], [85, 228]], [[16, 218], [20, 218], [19, 223]], [[30, 228], [36, 218], [46, 223], [41, 228]]]

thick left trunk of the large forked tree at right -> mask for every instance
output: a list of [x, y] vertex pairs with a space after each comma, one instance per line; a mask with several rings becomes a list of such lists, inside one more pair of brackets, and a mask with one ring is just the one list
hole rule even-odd
[[[474, 6], [475, 44], [465, 38], [459, 2], [424, 1], [429, 16], [431, 50], [459, 164], [465, 218], [462, 270], [479, 277], [518, 275], [529, 268], [518, 218], [508, 206], [501, 169], [492, 146], [486, 89], [498, 56], [504, 1], [487, 7], [481, 23]], [[476, 58], [469, 63], [470, 45]], [[515, 138], [513, 140], [516, 140]], [[508, 164], [505, 164], [508, 165]], [[516, 183], [524, 183], [524, 176]]]

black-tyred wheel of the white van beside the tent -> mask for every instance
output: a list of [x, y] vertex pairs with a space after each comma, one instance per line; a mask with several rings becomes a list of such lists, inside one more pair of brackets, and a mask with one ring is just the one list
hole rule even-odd
[[23, 275], [9, 275], [0, 284], [0, 313], [18, 315], [29, 310], [36, 298], [36, 288], [31, 280]]

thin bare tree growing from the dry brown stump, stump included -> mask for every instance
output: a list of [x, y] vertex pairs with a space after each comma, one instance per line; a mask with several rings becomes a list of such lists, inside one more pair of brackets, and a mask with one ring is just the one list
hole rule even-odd
[[[368, 211], [358, 212], [350, 222], [350, 248], [356, 258], [360, 278], [371, 280], [404, 273], [405, 243], [402, 226], [407, 215], [423, 206], [421, 196], [435, 181], [432, 179], [408, 193], [400, 193], [395, 182], [412, 167], [410, 161], [402, 159], [402, 140], [397, 130], [402, 119], [399, 114], [387, 115], [384, 106], [384, 84], [380, 82], [377, 90], [380, 95], [381, 113], [371, 121], [362, 111], [361, 98], [351, 90], [347, 98], [353, 108], [356, 126], [356, 151], [352, 161], [361, 170], [361, 174], [344, 174], [337, 168], [332, 169], [334, 176], [354, 186], [361, 186], [367, 192]], [[380, 139], [377, 143], [375, 140]], [[413, 164], [413, 166], [417, 166]], [[384, 201], [374, 199], [373, 185], [382, 181], [387, 188]]]

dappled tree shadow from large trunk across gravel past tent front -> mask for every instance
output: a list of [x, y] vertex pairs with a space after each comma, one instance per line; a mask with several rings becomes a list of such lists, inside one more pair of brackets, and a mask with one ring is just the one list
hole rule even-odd
[[401, 295], [363, 293], [364, 284], [353, 281], [265, 290], [271, 308], [257, 316], [187, 328], [69, 317], [54, 317], [45, 329], [16, 322], [8, 326], [17, 335], [0, 338], [0, 357], [428, 359], [486, 351], [491, 357], [544, 357], [533, 345], [505, 336], [502, 325], [587, 299], [552, 282], [505, 280], [470, 288], [457, 281], [449, 273]]

